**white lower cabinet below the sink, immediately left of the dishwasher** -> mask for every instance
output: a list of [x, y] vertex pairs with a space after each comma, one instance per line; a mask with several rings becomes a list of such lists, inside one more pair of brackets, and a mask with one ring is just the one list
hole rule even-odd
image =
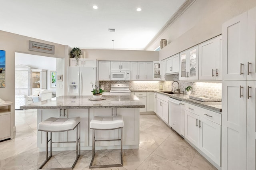
[[156, 115], [168, 124], [168, 96], [157, 93], [156, 97]]

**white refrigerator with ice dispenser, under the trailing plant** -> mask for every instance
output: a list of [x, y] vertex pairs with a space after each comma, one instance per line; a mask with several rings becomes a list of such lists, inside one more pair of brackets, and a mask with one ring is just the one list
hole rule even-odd
[[68, 67], [68, 95], [92, 95], [96, 67]]

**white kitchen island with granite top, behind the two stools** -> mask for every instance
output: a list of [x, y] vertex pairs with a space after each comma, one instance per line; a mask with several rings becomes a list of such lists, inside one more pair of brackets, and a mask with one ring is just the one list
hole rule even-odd
[[[38, 103], [20, 107], [21, 109], [37, 109], [37, 124], [49, 117], [81, 118], [81, 150], [92, 149], [92, 130], [89, 124], [94, 116], [117, 116], [124, 119], [123, 148], [138, 148], [140, 135], [140, 111], [145, 105], [135, 95], [102, 96], [104, 100], [89, 100], [92, 96], [60, 96]], [[53, 141], [72, 141], [75, 131], [56, 132]], [[97, 130], [96, 139], [120, 138], [120, 130]], [[96, 149], [118, 149], [120, 141], [96, 142]], [[45, 135], [37, 132], [37, 146], [45, 150]], [[74, 143], [53, 144], [53, 150], [74, 150]]]

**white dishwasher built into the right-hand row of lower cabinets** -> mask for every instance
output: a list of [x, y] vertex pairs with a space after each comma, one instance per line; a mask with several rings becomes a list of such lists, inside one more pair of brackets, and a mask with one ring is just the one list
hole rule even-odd
[[169, 125], [175, 130], [178, 134], [181, 134], [181, 101], [168, 99], [169, 105]]

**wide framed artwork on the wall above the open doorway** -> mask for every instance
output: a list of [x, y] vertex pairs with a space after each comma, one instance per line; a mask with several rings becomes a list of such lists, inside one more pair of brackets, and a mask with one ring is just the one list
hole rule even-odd
[[54, 54], [54, 45], [29, 41], [29, 50]]

